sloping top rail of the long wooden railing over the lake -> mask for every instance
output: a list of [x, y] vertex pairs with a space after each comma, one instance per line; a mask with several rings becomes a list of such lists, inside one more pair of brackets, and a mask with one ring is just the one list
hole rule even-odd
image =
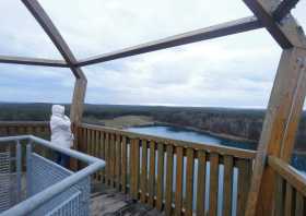
[[120, 133], [122, 135], [126, 135], [127, 137], [153, 140], [156, 143], [172, 143], [175, 147], [183, 147], [183, 148], [192, 147], [199, 151], [215, 152], [219, 155], [232, 155], [237, 158], [252, 159], [256, 157], [257, 154], [256, 151], [242, 149], [242, 148], [235, 148], [228, 146], [210, 145], [204, 143], [185, 142], [185, 141], [174, 140], [174, 139], [163, 139], [160, 136], [133, 133], [129, 131], [111, 129], [111, 128], [106, 128], [106, 127], [95, 125], [95, 124], [82, 123], [82, 127], [93, 129], [93, 130], [103, 130], [109, 133]]

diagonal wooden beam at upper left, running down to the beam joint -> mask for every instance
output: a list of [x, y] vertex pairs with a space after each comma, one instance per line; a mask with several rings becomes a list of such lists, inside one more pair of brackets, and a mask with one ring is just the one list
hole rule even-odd
[[39, 25], [44, 28], [46, 34], [52, 40], [54, 45], [57, 47], [63, 59], [68, 62], [70, 69], [72, 70], [73, 74], [76, 79], [85, 79], [83, 72], [74, 67], [76, 63], [76, 59], [73, 56], [72, 51], [70, 50], [69, 46], [60, 35], [57, 27], [54, 25], [52, 21], [38, 3], [37, 0], [22, 0], [24, 5], [28, 9], [35, 20], [39, 23]]

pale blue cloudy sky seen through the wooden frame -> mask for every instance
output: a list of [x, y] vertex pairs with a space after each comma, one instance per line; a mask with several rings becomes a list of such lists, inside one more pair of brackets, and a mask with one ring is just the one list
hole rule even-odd
[[[251, 15], [240, 0], [40, 0], [76, 59]], [[62, 59], [20, 0], [0, 1], [0, 55]], [[294, 16], [306, 28], [306, 1]], [[281, 49], [266, 29], [84, 67], [86, 103], [267, 107]], [[70, 103], [69, 69], [0, 64], [0, 101]]]

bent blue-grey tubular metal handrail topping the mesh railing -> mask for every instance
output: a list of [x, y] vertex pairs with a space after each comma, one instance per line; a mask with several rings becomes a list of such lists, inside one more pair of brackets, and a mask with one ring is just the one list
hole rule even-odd
[[51, 148], [54, 151], [60, 152], [62, 154], [69, 155], [73, 158], [80, 159], [84, 163], [90, 164], [90, 166], [83, 168], [80, 171], [76, 171], [75, 173], [71, 175], [70, 177], [67, 177], [62, 181], [45, 189], [44, 191], [31, 196], [30, 199], [21, 202], [20, 204], [11, 207], [10, 209], [3, 212], [1, 216], [22, 216], [27, 215], [28, 213], [33, 212], [34, 209], [38, 208], [56, 195], [60, 194], [68, 188], [72, 187], [80, 180], [84, 179], [85, 177], [96, 172], [98, 169], [105, 167], [105, 161], [102, 159], [98, 159], [93, 156], [85, 155], [83, 153], [70, 149], [70, 148], [63, 148], [57, 145], [54, 145], [51, 142], [33, 136], [33, 135], [19, 135], [19, 136], [8, 136], [8, 137], [0, 137], [0, 144], [3, 142], [17, 142], [21, 141], [28, 141], [30, 143], [35, 143], [48, 148]]

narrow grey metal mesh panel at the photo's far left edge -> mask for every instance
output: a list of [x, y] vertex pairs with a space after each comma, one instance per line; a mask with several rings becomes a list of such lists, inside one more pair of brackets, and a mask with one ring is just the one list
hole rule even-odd
[[10, 151], [0, 153], [0, 213], [10, 208], [11, 193], [11, 154]]

